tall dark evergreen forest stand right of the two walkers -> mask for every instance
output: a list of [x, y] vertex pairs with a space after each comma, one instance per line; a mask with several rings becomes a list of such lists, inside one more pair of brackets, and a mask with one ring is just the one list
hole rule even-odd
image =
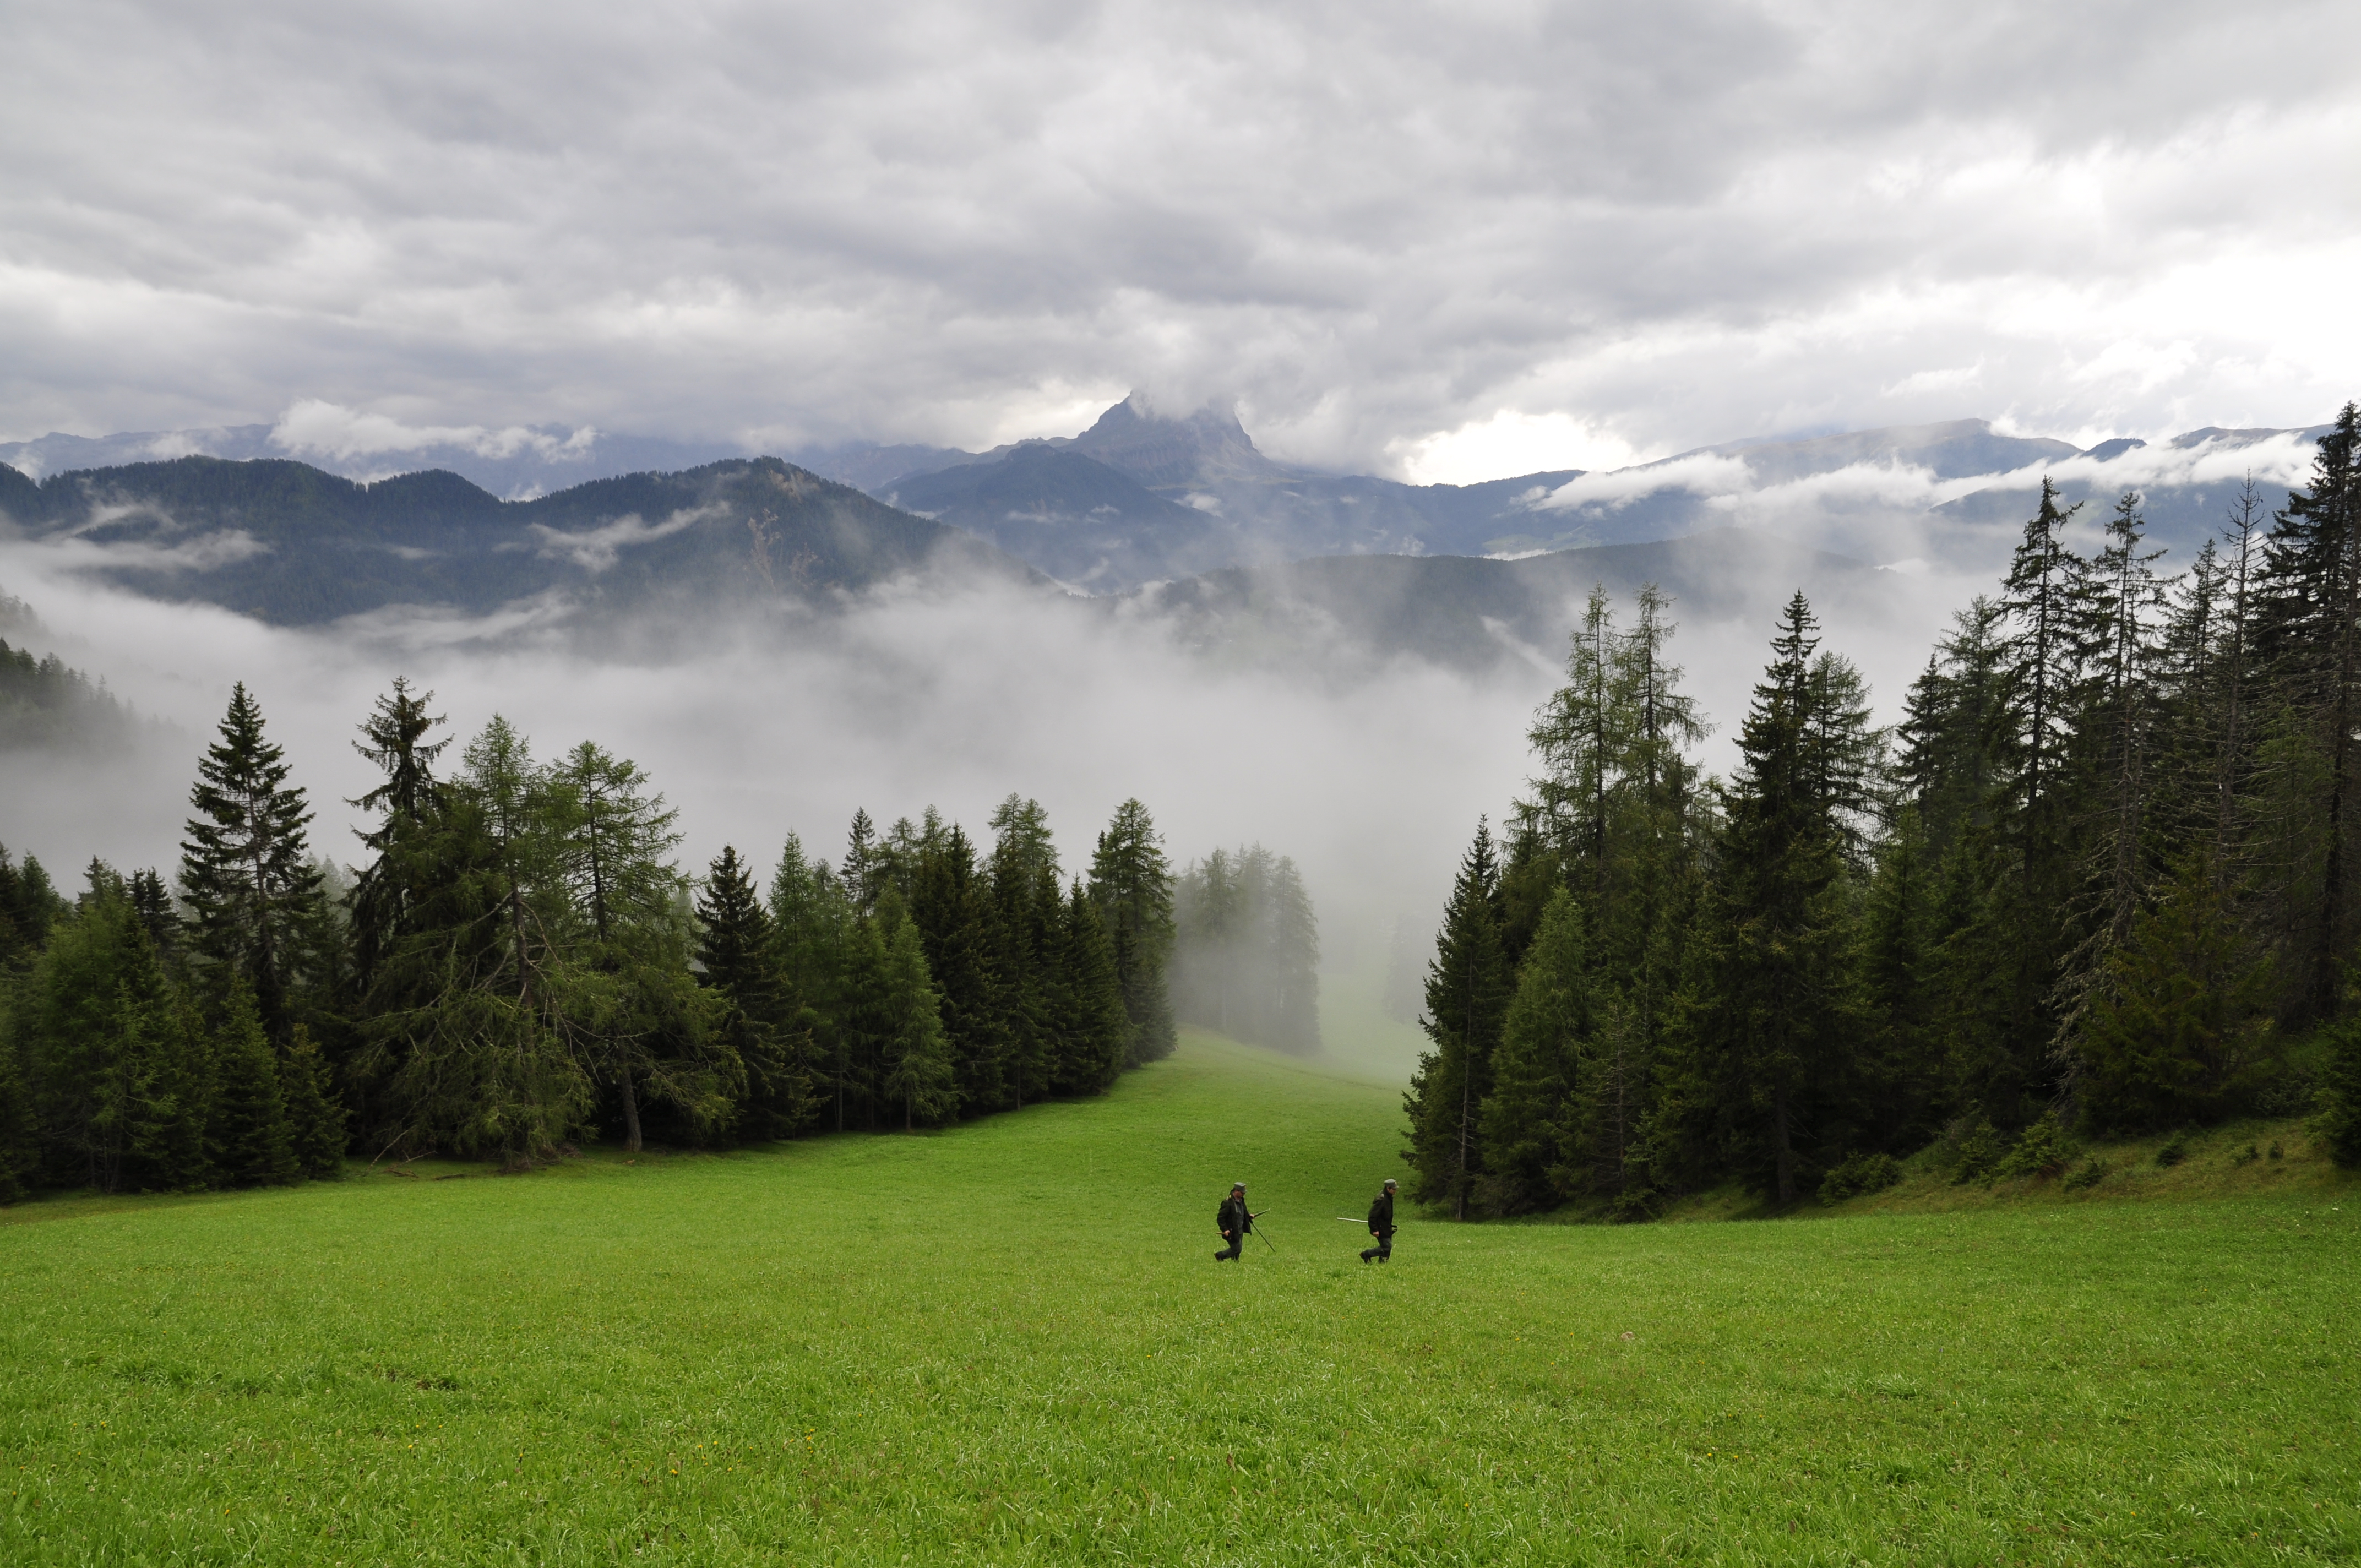
[[1643, 1216], [2059, 1171], [2075, 1141], [2319, 1112], [2361, 1159], [2361, 418], [2177, 576], [2042, 486], [2004, 581], [1872, 723], [1787, 605], [1731, 779], [1669, 605], [1594, 593], [1426, 975], [1414, 1195]]

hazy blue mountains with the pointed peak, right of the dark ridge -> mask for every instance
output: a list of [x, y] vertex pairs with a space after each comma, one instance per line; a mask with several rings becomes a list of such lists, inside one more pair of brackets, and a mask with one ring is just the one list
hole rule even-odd
[[[1138, 399], [1077, 437], [994, 451], [892, 446], [812, 458], [817, 472], [959, 524], [1088, 593], [1320, 555], [1497, 555], [1643, 543], [1787, 524], [1870, 560], [1943, 555], [1955, 524], [1988, 536], [2030, 515], [2040, 475], [2097, 517], [2141, 489], [2158, 543], [2193, 550], [2222, 527], [2231, 453], [2262, 451], [2264, 491], [2326, 430], [2193, 430], [2149, 449], [1995, 432], [1990, 420], [1700, 446], [1615, 472], [1544, 470], [1485, 484], [1400, 484], [1265, 458], [1232, 413], [1173, 418]], [[890, 458], [890, 460], [885, 460]], [[885, 468], [904, 465], [892, 477]], [[833, 465], [833, 468], [831, 468]], [[2295, 458], [2302, 465], [2302, 458]], [[2274, 496], [2274, 503], [2281, 496]], [[1986, 555], [1969, 550], [1969, 555]]]

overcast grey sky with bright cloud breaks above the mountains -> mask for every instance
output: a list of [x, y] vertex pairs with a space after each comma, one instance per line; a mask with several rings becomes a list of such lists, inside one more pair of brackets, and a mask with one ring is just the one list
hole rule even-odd
[[0, 0], [0, 439], [1235, 397], [1471, 479], [2361, 394], [2361, 7]]

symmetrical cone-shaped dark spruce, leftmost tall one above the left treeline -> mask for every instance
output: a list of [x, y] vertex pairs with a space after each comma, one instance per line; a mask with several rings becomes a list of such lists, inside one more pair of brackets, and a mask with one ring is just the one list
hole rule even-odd
[[316, 933], [319, 871], [305, 841], [312, 810], [302, 789], [288, 786], [286, 753], [264, 739], [246, 682], [231, 690], [189, 803], [196, 815], [179, 845], [179, 886], [191, 942], [224, 978], [248, 985], [264, 1032], [286, 1039]]

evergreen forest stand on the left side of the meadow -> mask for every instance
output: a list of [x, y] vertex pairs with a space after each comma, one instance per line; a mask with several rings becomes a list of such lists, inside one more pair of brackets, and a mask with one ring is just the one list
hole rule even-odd
[[0, 1200], [333, 1176], [347, 1152], [548, 1159], [916, 1129], [1103, 1091], [1173, 1048], [1173, 876], [1138, 801], [1060, 864], [1039, 803], [789, 838], [767, 888], [590, 741], [456, 758], [397, 680], [349, 881], [241, 685], [172, 886], [61, 895], [0, 850]]

